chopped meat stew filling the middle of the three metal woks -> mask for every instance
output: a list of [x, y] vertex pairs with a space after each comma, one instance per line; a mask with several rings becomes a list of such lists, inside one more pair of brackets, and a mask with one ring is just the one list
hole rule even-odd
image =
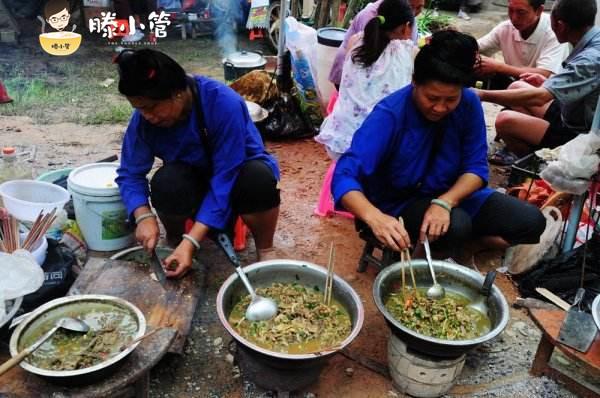
[[317, 287], [273, 283], [256, 289], [256, 293], [277, 302], [277, 315], [266, 321], [247, 320], [247, 295], [233, 307], [229, 323], [243, 338], [262, 348], [287, 354], [325, 351], [337, 347], [352, 331], [348, 311], [336, 300], [325, 305]]

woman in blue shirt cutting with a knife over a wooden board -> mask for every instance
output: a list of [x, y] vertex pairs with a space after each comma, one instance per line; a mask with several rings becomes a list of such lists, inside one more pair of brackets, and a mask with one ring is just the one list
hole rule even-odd
[[[244, 100], [229, 87], [188, 76], [159, 51], [125, 50], [115, 59], [119, 91], [135, 108], [123, 139], [117, 184], [136, 239], [156, 247], [159, 227], [175, 247], [165, 263], [179, 277], [192, 264], [198, 242], [225, 230], [240, 215], [257, 252], [272, 251], [279, 215], [279, 169], [266, 152]], [[154, 158], [162, 160], [148, 185]], [[149, 200], [150, 199], [150, 200]], [[191, 230], [184, 234], [187, 219]]]

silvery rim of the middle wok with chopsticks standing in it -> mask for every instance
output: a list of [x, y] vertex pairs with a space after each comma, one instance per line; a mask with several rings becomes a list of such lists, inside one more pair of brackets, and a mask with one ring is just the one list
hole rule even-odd
[[[320, 265], [310, 263], [308, 261], [299, 261], [299, 260], [291, 260], [291, 259], [277, 259], [277, 260], [260, 261], [260, 262], [253, 263], [251, 265], [244, 267], [244, 272], [246, 272], [248, 274], [257, 269], [263, 269], [264, 267], [268, 267], [271, 265], [292, 265], [292, 266], [297, 266], [299, 268], [308, 267], [308, 268], [312, 269], [313, 271], [322, 273], [325, 277], [327, 276], [327, 269]], [[227, 316], [225, 315], [225, 312], [223, 310], [223, 307], [224, 307], [223, 299], [225, 296], [225, 291], [234, 283], [234, 281], [239, 279], [239, 276], [235, 272], [233, 274], [231, 274], [219, 288], [219, 292], [217, 294], [217, 315], [219, 316], [219, 320], [221, 321], [221, 324], [223, 325], [225, 330], [227, 330], [227, 332], [231, 335], [231, 337], [233, 337], [239, 343], [243, 344], [245, 347], [250, 348], [254, 351], [257, 351], [263, 355], [266, 355], [269, 357], [275, 357], [278, 359], [292, 359], [292, 360], [314, 359], [314, 358], [329, 356], [329, 355], [335, 354], [336, 352], [342, 350], [344, 347], [346, 347], [347, 345], [352, 343], [352, 341], [354, 341], [354, 339], [358, 336], [358, 334], [360, 333], [360, 331], [362, 329], [364, 318], [365, 318], [365, 310], [364, 310], [361, 298], [358, 295], [358, 293], [356, 293], [354, 288], [352, 286], [350, 286], [350, 284], [348, 282], [346, 282], [341, 277], [337, 276], [335, 273], [333, 274], [333, 277], [334, 277], [334, 282], [335, 282], [334, 285], [338, 284], [338, 285], [343, 286], [350, 293], [350, 296], [352, 297], [352, 300], [357, 307], [356, 320], [355, 320], [354, 326], [352, 327], [352, 330], [350, 331], [350, 334], [333, 350], [323, 350], [323, 351], [314, 352], [314, 353], [310, 353], [310, 354], [286, 354], [286, 353], [282, 353], [282, 352], [267, 350], [266, 348], [260, 347], [256, 344], [250, 342], [249, 340], [246, 340], [245, 338], [243, 338], [229, 324], [229, 321], [227, 320]]]

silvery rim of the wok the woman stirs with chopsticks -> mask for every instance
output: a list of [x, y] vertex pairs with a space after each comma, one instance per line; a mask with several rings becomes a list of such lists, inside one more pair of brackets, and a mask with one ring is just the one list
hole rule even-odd
[[[412, 260], [411, 264], [427, 266], [427, 261], [421, 260], [421, 259]], [[479, 272], [471, 270], [460, 264], [454, 264], [454, 263], [450, 263], [450, 262], [442, 261], [442, 260], [433, 260], [432, 264], [435, 268], [436, 273], [443, 272], [445, 269], [456, 269], [456, 267], [462, 267], [463, 269], [461, 269], [460, 271], [465, 271], [466, 273], [475, 277], [476, 279], [478, 279], [478, 281], [480, 281], [480, 284], [483, 284], [483, 281], [485, 279], [485, 277], [482, 276]], [[414, 330], [407, 328], [402, 323], [400, 323], [398, 320], [396, 320], [396, 318], [394, 318], [392, 316], [392, 314], [390, 314], [389, 311], [385, 308], [385, 305], [381, 298], [381, 289], [380, 289], [382, 281], [384, 279], [388, 278], [389, 275], [392, 274], [393, 272], [399, 270], [401, 267], [402, 267], [402, 263], [396, 262], [396, 263], [390, 264], [389, 266], [387, 266], [386, 268], [381, 270], [381, 272], [377, 275], [377, 277], [375, 278], [375, 281], [373, 282], [373, 300], [375, 301], [375, 306], [377, 307], [377, 310], [384, 316], [384, 318], [386, 319], [386, 321], [388, 321], [389, 324], [393, 325], [393, 327], [399, 329], [403, 333], [410, 335], [412, 338], [422, 340], [423, 342], [426, 342], [426, 343], [436, 344], [438, 346], [451, 346], [454, 348], [461, 348], [461, 347], [468, 348], [468, 347], [475, 346], [475, 345], [478, 345], [478, 344], [481, 344], [481, 343], [484, 343], [486, 341], [493, 339], [494, 337], [496, 337], [500, 333], [502, 333], [502, 331], [508, 325], [508, 321], [510, 318], [508, 303], [507, 303], [506, 298], [504, 297], [504, 294], [502, 293], [502, 291], [495, 284], [493, 284], [492, 285], [492, 294], [498, 295], [498, 297], [500, 298], [501, 318], [500, 318], [498, 324], [496, 325], [496, 327], [491, 329], [486, 334], [479, 336], [477, 338], [474, 338], [474, 339], [444, 340], [444, 339], [439, 339], [437, 337], [425, 336], [424, 334], [417, 333]], [[393, 332], [393, 330], [392, 330], [392, 332]]]

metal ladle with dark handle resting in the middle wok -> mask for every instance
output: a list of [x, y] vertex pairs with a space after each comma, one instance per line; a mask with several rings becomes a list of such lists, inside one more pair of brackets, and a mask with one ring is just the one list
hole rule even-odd
[[249, 321], [266, 321], [267, 319], [271, 319], [277, 315], [277, 303], [268, 297], [259, 296], [254, 291], [254, 288], [250, 284], [246, 273], [242, 269], [240, 260], [233, 250], [233, 246], [231, 245], [229, 237], [224, 233], [220, 233], [217, 236], [217, 243], [225, 252], [225, 255], [229, 261], [234, 265], [235, 272], [237, 272], [238, 276], [244, 283], [244, 286], [246, 286], [248, 293], [250, 293], [250, 305], [246, 309], [246, 319]]

